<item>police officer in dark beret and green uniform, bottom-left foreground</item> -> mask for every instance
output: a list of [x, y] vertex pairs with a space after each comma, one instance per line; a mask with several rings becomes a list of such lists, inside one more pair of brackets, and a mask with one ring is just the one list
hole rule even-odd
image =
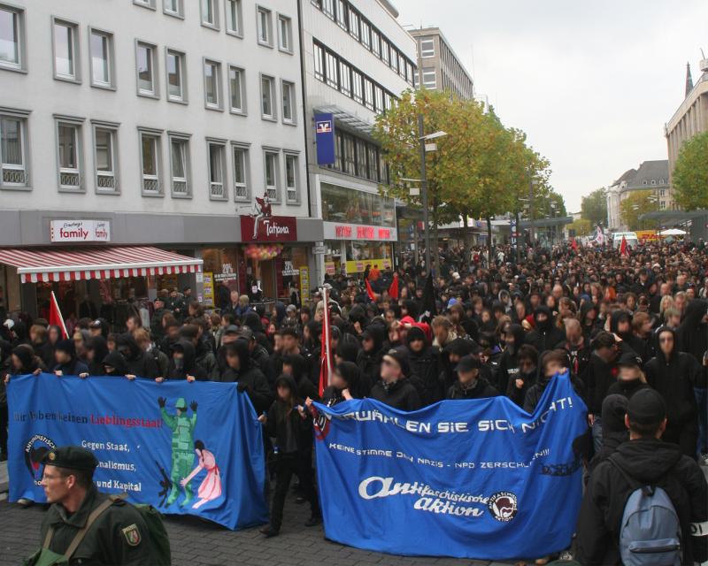
[[140, 511], [100, 493], [96, 456], [58, 447], [43, 460], [42, 487], [51, 507], [42, 521], [42, 549], [28, 563], [150, 565], [150, 534]]

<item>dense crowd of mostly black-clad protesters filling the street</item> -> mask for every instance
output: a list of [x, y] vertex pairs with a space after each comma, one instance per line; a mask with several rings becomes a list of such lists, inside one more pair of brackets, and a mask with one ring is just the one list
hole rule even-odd
[[[481, 251], [441, 252], [435, 279], [412, 261], [396, 274], [367, 269], [366, 279], [327, 277], [334, 371], [321, 399], [325, 305], [319, 291], [311, 304], [268, 308], [232, 292], [218, 312], [175, 292], [154, 302], [150, 327], [138, 313], [120, 332], [102, 318], [83, 318], [68, 339], [46, 320], [27, 326], [8, 319], [0, 371], [237, 383], [273, 439], [276, 486], [263, 530], [273, 536], [293, 477], [299, 499], [312, 507], [307, 524], [320, 520], [307, 416], [312, 401], [370, 397], [411, 411], [445, 399], [504, 395], [533, 412], [550, 380], [567, 369], [589, 410], [591, 501], [583, 503], [578, 533], [583, 563], [610, 563], [604, 561], [613, 546], [616, 552], [618, 525], [605, 525], [603, 517], [618, 509], [621, 516], [623, 504], [597, 495], [610, 489], [607, 482], [620, 481], [605, 462], [615, 453], [640, 480], [668, 481], [678, 467], [670, 495], [679, 501], [681, 524], [689, 533], [685, 522], [704, 523], [706, 488], [698, 468], [708, 453], [704, 242], [646, 246], [630, 256], [564, 243], [525, 250], [519, 263], [504, 261], [513, 256], [504, 248], [491, 262]], [[666, 421], [649, 432], [639, 424], [627, 430], [627, 405], [646, 390], [658, 394]], [[637, 414], [647, 402], [656, 407], [656, 397], [637, 397]], [[4, 394], [0, 415], [5, 453]], [[687, 534], [684, 553], [705, 560], [705, 537], [694, 539]]]

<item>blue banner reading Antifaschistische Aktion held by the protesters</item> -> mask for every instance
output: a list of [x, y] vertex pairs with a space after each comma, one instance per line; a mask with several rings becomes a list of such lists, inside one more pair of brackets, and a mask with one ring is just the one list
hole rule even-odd
[[587, 408], [566, 376], [534, 414], [504, 397], [406, 413], [365, 399], [319, 417], [328, 539], [396, 555], [538, 558], [570, 544]]

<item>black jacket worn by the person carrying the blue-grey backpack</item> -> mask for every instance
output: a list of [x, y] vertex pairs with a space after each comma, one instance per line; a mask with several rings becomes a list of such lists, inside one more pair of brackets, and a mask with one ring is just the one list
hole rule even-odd
[[[691, 523], [708, 520], [708, 491], [698, 464], [678, 447], [655, 439], [620, 444], [613, 458], [630, 478], [666, 491], [681, 522], [682, 563], [703, 562], [708, 537], [690, 536]], [[633, 491], [611, 462], [592, 472], [578, 519], [576, 559], [583, 566], [620, 563], [620, 524]]]

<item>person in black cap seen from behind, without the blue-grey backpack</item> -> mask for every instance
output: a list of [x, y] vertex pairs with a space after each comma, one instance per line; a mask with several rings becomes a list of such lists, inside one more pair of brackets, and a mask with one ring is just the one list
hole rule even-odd
[[659, 486], [681, 524], [681, 563], [704, 562], [708, 486], [692, 458], [661, 440], [666, 430], [661, 395], [652, 389], [637, 392], [627, 403], [625, 424], [629, 440], [590, 476], [578, 518], [576, 560], [583, 566], [619, 564], [620, 528], [629, 495], [638, 487]]

